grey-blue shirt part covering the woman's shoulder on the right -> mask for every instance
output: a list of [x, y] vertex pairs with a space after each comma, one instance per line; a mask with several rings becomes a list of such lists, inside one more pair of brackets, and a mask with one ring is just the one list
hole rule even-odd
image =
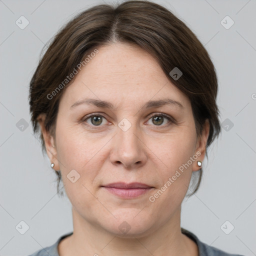
[[198, 246], [200, 256], [244, 256], [240, 254], [230, 254], [216, 247], [210, 246], [198, 239], [192, 232], [181, 227], [181, 232], [187, 235], [190, 239], [194, 240]]

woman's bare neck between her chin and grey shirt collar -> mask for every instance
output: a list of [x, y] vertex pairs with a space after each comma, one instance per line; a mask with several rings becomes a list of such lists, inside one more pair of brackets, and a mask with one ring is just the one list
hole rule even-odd
[[59, 250], [64, 255], [197, 255], [196, 244], [180, 230], [180, 207], [166, 223], [147, 234], [125, 238], [82, 218], [73, 208], [73, 234]]

